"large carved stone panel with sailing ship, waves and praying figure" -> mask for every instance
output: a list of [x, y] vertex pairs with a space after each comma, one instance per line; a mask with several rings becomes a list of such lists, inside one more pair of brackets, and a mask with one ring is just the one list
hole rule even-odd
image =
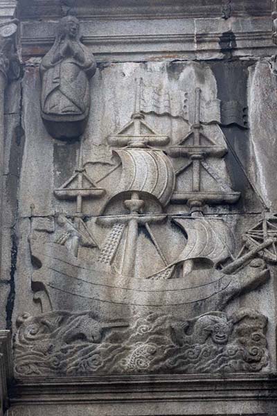
[[[244, 225], [231, 216], [247, 205], [230, 172], [242, 162], [229, 163], [224, 135], [240, 129], [250, 146], [247, 107], [218, 98], [208, 64], [114, 64], [93, 76], [78, 21], [64, 24], [42, 80], [32, 80], [42, 88], [42, 137], [26, 126], [26, 157], [30, 149], [39, 161], [42, 142], [49, 177], [25, 162], [34, 312], [16, 301], [17, 376], [268, 371], [268, 316], [247, 294], [271, 285], [277, 220], [246, 169], [253, 216]], [[84, 93], [76, 119], [74, 88]], [[32, 204], [24, 196], [24, 174], [46, 204], [36, 191]]]

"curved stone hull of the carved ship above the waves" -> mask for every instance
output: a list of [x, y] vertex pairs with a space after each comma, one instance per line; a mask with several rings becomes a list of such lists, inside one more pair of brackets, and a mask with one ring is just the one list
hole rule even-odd
[[[243, 285], [244, 275], [247, 274], [247, 279], [253, 281], [264, 279], [267, 275], [267, 270], [259, 269], [251, 271], [252, 277], [244, 269], [235, 275], [208, 269], [194, 270], [180, 279], [152, 281], [118, 275], [109, 266], [100, 263], [85, 263], [73, 258], [64, 246], [57, 244], [33, 244], [32, 255], [35, 263], [41, 266], [33, 272], [33, 288], [41, 291], [43, 287], [51, 293], [50, 298], [54, 300], [52, 309], [55, 309], [55, 299], [60, 302], [62, 297], [77, 308], [80, 305], [80, 309], [97, 302], [154, 309], [180, 306], [188, 312], [197, 305], [203, 307], [207, 304], [211, 310], [219, 306], [223, 295], [228, 299], [233, 291], [241, 290], [238, 286]], [[247, 284], [245, 281], [244, 286]]]

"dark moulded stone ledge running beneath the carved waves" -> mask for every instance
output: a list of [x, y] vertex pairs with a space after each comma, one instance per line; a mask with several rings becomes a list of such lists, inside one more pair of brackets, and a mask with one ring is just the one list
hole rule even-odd
[[276, 416], [277, 375], [22, 379], [11, 388], [10, 401], [12, 408], [28, 409], [28, 416], [69, 410], [74, 416]]

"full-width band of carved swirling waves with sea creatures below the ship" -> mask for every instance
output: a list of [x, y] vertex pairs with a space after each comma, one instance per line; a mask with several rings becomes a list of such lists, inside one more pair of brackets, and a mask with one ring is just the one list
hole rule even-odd
[[267, 318], [252, 309], [185, 322], [150, 313], [129, 324], [55, 311], [17, 320], [17, 376], [258, 372], [268, 363]]

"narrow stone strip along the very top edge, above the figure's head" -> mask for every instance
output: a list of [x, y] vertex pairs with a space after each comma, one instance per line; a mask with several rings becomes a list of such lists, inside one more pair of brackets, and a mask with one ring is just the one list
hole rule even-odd
[[[61, 17], [61, 1], [19, 0], [21, 19]], [[145, 17], [222, 17], [222, 0], [78, 0], [74, 9], [80, 19], [141, 19]], [[232, 0], [232, 16], [262, 16], [271, 14], [271, 0]]]

